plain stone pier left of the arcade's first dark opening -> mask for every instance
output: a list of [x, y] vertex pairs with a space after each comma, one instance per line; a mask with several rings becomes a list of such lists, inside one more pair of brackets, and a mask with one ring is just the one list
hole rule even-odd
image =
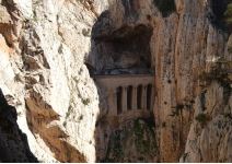
[[109, 116], [117, 116], [117, 95], [116, 89], [108, 90], [108, 115]]

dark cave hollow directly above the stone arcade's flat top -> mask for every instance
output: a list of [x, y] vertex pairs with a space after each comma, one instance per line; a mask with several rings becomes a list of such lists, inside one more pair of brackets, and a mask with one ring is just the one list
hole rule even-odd
[[[90, 56], [92, 74], [152, 73], [150, 39], [152, 27], [125, 25], [108, 35], [94, 37], [95, 49]], [[93, 57], [94, 56], [94, 57]]]

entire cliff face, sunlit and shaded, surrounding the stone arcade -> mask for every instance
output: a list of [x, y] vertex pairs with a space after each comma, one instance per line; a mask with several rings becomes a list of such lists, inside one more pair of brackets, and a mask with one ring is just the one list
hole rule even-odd
[[[231, 162], [228, 2], [0, 0], [0, 147], [18, 162]], [[90, 74], [144, 72], [154, 118], [112, 129]]]

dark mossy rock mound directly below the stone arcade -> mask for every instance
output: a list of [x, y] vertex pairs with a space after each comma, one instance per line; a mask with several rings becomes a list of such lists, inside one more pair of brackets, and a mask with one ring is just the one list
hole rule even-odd
[[148, 120], [128, 121], [112, 132], [103, 162], [159, 162], [153, 122]]

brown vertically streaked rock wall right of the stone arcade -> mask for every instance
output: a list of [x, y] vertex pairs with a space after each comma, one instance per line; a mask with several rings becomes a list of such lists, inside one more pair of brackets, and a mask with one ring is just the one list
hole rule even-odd
[[[214, 140], [214, 134], [206, 132], [209, 129], [218, 130], [217, 126], [212, 128], [212, 124], [220, 122], [218, 117], [227, 113], [224, 110], [230, 101], [222, 99], [231, 97], [231, 80], [223, 81], [223, 75], [212, 75], [207, 85], [201, 85], [200, 77], [204, 72], [217, 72], [213, 68], [218, 67], [219, 59], [231, 61], [231, 54], [227, 49], [228, 34], [212, 24], [210, 7], [210, 1], [176, 1], [176, 13], [159, 19], [153, 32], [156, 83], [154, 115], [160, 133], [161, 161], [178, 161], [185, 151], [187, 162], [219, 162], [220, 152], [227, 149], [220, 144], [230, 144], [229, 140], [222, 141], [220, 137]], [[221, 68], [217, 73], [220, 72], [223, 72]], [[228, 74], [225, 77], [228, 79]], [[197, 125], [202, 121], [198, 117], [205, 115], [207, 124], [198, 131]], [[219, 133], [221, 138], [230, 138], [229, 133]], [[207, 144], [208, 139], [212, 141]], [[230, 154], [228, 151], [222, 161], [229, 160]]]

